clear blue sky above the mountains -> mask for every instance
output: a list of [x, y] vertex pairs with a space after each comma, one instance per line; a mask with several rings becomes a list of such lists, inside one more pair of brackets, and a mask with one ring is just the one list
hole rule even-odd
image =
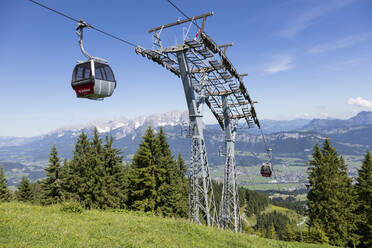
[[[40, 2], [146, 48], [148, 29], [182, 17], [166, 0]], [[372, 110], [372, 1], [173, 2], [189, 16], [214, 12], [206, 32], [219, 44], [234, 43], [227, 54], [249, 74], [245, 84], [261, 119], [348, 118]], [[84, 57], [76, 23], [27, 0], [2, 0], [0, 9], [0, 136], [186, 110], [177, 77], [94, 30], [85, 33], [85, 48], [110, 62], [118, 86], [104, 101], [77, 99], [71, 73]], [[179, 28], [164, 39], [174, 41], [175, 32], [182, 37]], [[206, 122], [213, 122], [208, 113]]]

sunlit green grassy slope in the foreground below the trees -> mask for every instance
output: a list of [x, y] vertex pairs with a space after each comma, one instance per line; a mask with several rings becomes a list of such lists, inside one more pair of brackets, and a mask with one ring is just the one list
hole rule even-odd
[[0, 203], [0, 247], [329, 247], [234, 234], [138, 212]]

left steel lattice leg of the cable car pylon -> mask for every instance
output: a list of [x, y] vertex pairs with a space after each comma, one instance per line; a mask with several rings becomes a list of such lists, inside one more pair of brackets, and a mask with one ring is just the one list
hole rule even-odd
[[200, 219], [200, 217], [202, 217], [208, 226], [218, 226], [216, 204], [214, 201], [207, 152], [203, 138], [204, 97], [198, 95], [192, 86], [191, 74], [186, 60], [186, 52], [177, 52], [177, 59], [192, 131], [189, 217], [198, 224], [202, 223]]

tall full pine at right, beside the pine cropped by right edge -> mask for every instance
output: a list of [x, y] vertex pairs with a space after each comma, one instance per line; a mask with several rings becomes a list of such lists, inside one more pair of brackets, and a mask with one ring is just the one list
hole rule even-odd
[[329, 238], [330, 244], [352, 245], [356, 223], [355, 192], [347, 175], [347, 166], [337, 151], [325, 140], [323, 148], [315, 146], [309, 165], [309, 217]]

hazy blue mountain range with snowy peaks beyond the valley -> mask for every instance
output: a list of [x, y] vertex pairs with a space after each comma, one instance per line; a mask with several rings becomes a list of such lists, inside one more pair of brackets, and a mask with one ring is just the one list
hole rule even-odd
[[[116, 140], [115, 146], [122, 150], [124, 159], [130, 161], [149, 125], [155, 129], [163, 127], [173, 153], [181, 153], [187, 160], [191, 141], [181, 136], [181, 130], [187, 128], [186, 123], [187, 112], [169, 111], [134, 119], [96, 120], [86, 125], [62, 127], [36, 137], [0, 137], [0, 164], [4, 166], [11, 185], [15, 185], [21, 175], [36, 180], [43, 175], [52, 145], [56, 145], [61, 157], [70, 158], [81, 131], [91, 134], [94, 127], [102, 136], [111, 134]], [[263, 120], [262, 126], [266, 140], [273, 149], [273, 163], [290, 167], [305, 167], [314, 145], [322, 143], [326, 137], [353, 166], [372, 147], [372, 112], [360, 112], [346, 120]], [[223, 131], [218, 125], [206, 125], [204, 138], [211, 168], [220, 168], [225, 160], [219, 156], [219, 150], [224, 147]], [[258, 130], [239, 128], [236, 138], [237, 165], [257, 166], [264, 160], [263, 137]], [[351, 168], [350, 172], [355, 174], [355, 171], [355, 168]], [[298, 180], [304, 178], [303, 175]]]

